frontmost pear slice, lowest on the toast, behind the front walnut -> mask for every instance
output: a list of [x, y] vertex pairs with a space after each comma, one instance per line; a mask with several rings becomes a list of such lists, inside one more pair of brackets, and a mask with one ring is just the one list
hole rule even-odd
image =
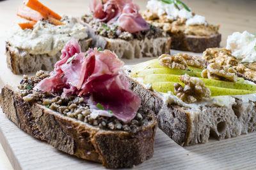
[[[167, 93], [168, 91], [174, 92], [174, 82], [154, 82], [152, 83], [152, 89], [157, 92]], [[184, 86], [183, 83], [180, 85]], [[206, 86], [211, 90], [211, 96], [229, 96], [229, 95], [244, 95], [244, 94], [254, 94], [256, 92], [249, 90], [237, 90], [237, 89], [226, 89], [221, 87]]]

